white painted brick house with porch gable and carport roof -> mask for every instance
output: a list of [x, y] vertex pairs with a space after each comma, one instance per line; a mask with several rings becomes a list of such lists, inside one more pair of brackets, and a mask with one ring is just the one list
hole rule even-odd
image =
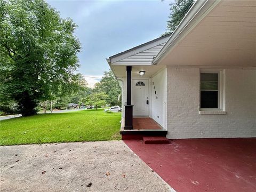
[[107, 61], [125, 130], [132, 115], [168, 139], [256, 137], [256, 1], [196, 1], [172, 35]]

